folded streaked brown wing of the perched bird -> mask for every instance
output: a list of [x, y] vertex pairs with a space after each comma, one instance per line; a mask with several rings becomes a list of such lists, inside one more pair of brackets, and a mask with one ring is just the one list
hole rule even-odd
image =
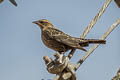
[[[80, 41], [79, 38], [74, 38], [69, 36], [68, 34], [65, 34], [64, 32], [58, 30], [58, 29], [49, 29], [49, 34], [48, 34], [52, 39], [63, 43], [65, 45], [68, 45], [70, 47], [73, 48], [78, 48], [78, 49], [82, 49], [84, 51], [86, 51], [85, 49], [83, 49], [80, 44], [84, 43], [84, 41]], [[86, 43], [86, 42], [85, 42]]]

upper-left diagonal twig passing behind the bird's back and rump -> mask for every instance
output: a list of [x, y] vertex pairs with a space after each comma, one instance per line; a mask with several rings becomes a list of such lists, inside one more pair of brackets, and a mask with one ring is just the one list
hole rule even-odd
[[[85, 38], [85, 36], [88, 34], [88, 32], [93, 28], [93, 26], [96, 24], [96, 22], [98, 21], [98, 19], [102, 16], [102, 14], [104, 13], [104, 11], [106, 10], [106, 8], [108, 7], [108, 5], [110, 4], [112, 0], [106, 0], [106, 2], [104, 3], [104, 5], [102, 6], [102, 8], [100, 9], [100, 11], [98, 12], [98, 14], [94, 17], [94, 19], [90, 22], [90, 24], [87, 26], [87, 28], [85, 29], [85, 31], [83, 32], [83, 34], [80, 36], [80, 38]], [[68, 57], [69, 59], [72, 58], [74, 52], [76, 49], [73, 49]]]

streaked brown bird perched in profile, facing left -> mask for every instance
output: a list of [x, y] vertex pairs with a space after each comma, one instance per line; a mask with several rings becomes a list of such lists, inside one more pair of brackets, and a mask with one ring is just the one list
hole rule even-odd
[[87, 51], [83, 47], [89, 44], [105, 44], [105, 40], [98, 39], [83, 39], [72, 37], [58, 29], [56, 29], [50, 21], [41, 19], [34, 21], [41, 29], [41, 38], [43, 43], [50, 49], [58, 51], [59, 53], [66, 52], [71, 49], [81, 49]]

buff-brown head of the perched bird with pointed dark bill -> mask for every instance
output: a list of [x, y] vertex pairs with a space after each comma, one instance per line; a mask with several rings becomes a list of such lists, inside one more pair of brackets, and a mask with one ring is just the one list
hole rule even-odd
[[32, 22], [34, 24], [37, 24], [41, 29], [45, 28], [45, 27], [51, 27], [53, 28], [54, 26], [51, 24], [50, 21], [48, 21], [47, 19], [41, 19], [38, 21], [34, 21]]

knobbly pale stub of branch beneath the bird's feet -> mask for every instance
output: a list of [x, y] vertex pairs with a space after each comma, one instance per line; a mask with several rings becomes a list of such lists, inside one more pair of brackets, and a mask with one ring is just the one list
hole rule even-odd
[[[56, 74], [53, 80], [76, 80], [76, 72], [74, 65], [69, 61], [69, 58], [62, 56], [58, 52], [54, 54], [55, 59], [52, 60], [48, 56], [44, 56], [46, 68], [49, 73]], [[62, 60], [60, 63], [59, 60]]]

